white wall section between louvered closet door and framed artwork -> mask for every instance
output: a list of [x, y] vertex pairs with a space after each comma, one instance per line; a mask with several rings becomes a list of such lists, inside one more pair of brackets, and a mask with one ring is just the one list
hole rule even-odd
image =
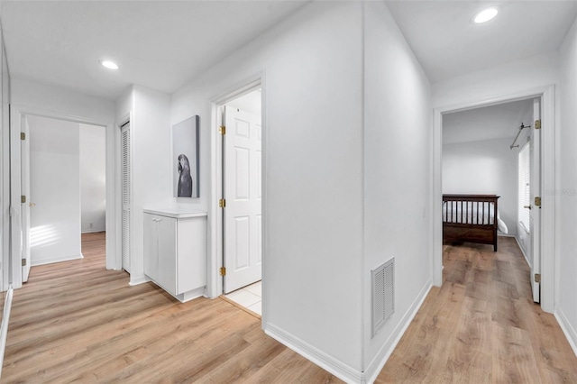
[[[146, 87], [133, 86], [117, 101], [118, 136], [119, 124], [129, 115], [131, 119], [131, 284], [147, 280], [143, 264], [142, 209], [166, 205], [172, 197], [169, 111], [170, 96]], [[120, 163], [117, 166], [120, 167]], [[120, 168], [117, 175], [119, 171]], [[120, 189], [117, 192], [120, 193]]]

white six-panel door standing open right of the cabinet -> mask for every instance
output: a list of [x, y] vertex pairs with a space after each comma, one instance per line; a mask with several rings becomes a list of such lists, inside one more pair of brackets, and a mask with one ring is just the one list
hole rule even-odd
[[224, 293], [261, 279], [261, 116], [224, 109]]

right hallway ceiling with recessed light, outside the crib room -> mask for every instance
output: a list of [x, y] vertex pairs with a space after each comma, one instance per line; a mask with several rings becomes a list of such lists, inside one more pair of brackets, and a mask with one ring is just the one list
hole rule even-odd
[[[431, 83], [558, 50], [577, 16], [577, 2], [387, 1]], [[488, 23], [472, 16], [500, 7]]]

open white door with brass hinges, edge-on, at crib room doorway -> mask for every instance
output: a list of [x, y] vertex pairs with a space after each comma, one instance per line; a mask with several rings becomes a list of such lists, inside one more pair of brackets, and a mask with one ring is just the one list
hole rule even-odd
[[[531, 238], [531, 255], [533, 264], [531, 266], [531, 288], [533, 288], [533, 301], [540, 300], [540, 284], [536, 276], [541, 273], [541, 206], [536, 204], [536, 197], [541, 197], [541, 129], [538, 127], [541, 119], [541, 100], [533, 100], [534, 122], [531, 127], [530, 142], [530, 211], [529, 211], [529, 236]], [[537, 123], [538, 121], [538, 123]]]

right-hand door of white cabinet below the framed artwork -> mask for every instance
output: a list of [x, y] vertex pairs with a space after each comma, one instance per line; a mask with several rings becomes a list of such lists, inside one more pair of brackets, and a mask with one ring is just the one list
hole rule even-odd
[[177, 292], [177, 219], [156, 216], [158, 221], [158, 276], [155, 281], [172, 294]]

